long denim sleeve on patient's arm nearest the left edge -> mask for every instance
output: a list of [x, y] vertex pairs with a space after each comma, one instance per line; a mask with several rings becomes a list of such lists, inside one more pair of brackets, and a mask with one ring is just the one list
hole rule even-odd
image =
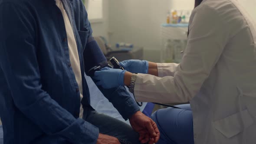
[[15, 106], [47, 135], [65, 137], [72, 144], [95, 144], [98, 128], [75, 118], [42, 89], [36, 20], [24, 5], [0, 3], [0, 68]]

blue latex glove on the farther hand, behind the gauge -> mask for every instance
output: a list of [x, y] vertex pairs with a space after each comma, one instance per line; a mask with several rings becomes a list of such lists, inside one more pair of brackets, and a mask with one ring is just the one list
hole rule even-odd
[[125, 60], [122, 62], [119, 62], [120, 65], [131, 73], [148, 73], [148, 61], [146, 60]]

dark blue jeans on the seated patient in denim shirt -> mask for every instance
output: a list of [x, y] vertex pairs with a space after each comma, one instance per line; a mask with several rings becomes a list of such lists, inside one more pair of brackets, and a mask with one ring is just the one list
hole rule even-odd
[[[99, 128], [99, 133], [118, 138], [121, 144], [141, 144], [139, 134], [130, 125], [110, 116], [88, 109], [84, 111], [83, 119]], [[33, 144], [71, 144], [59, 136], [47, 136]]]

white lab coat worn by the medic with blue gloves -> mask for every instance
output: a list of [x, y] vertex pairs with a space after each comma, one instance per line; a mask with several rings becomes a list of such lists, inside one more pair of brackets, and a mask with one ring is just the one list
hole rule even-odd
[[255, 23], [236, 0], [203, 0], [189, 30], [180, 64], [137, 75], [136, 100], [190, 101], [195, 144], [256, 144]]

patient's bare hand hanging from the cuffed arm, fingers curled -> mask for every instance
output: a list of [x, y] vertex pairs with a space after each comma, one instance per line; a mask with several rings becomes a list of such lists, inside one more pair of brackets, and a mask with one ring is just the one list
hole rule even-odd
[[137, 131], [140, 135], [139, 141], [142, 144], [157, 143], [160, 138], [160, 132], [157, 124], [151, 119], [144, 115], [141, 111], [136, 112], [129, 119], [131, 127]]

